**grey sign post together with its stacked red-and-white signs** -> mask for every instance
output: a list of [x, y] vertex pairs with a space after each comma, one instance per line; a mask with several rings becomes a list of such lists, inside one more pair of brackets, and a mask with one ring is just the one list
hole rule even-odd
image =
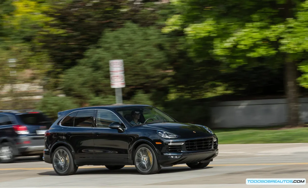
[[115, 102], [122, 104], [122, 87], [125, 87], [123, 59], [109, 61], [110, 86], [115, 88]]

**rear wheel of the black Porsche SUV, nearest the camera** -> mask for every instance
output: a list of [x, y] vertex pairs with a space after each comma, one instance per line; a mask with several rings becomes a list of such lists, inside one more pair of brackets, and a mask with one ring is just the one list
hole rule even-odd
[[[62, 161], [59, 160], [58, 154], [60, 156], [60, 159], [63, 159]], [[51, 162], [55, 172], [60, 176], [73, 175], [78, 170], [78, 166], [76, 166], [74, 163], [71, 151], [65, 146], [60, 146], [55, 149], [55, 151], [52, 153]], [[61, 162], [65, 163], [63, 166], [63, 170], [60, 170], [62, 166]]]

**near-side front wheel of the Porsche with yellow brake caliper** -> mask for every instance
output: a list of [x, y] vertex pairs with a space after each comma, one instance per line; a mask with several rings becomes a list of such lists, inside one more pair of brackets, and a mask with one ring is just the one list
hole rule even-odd
[[[142, 156], [143, 154], [143, 156]], [[144, 157], [144, 158], [142, 158]], [[145, 159], [144, 162], [140, 161]], [[152, 164], [151, 164], [152, 163]], [[134, 164], [140, 174], [156, 174], [161, 167], [158, 163], [155, 151], [147, 144], [141, 144], [134, 152]], [[147, 164], [147, 165], [145, 165]], [[144, 169], [146, 168], [146, 169]]]

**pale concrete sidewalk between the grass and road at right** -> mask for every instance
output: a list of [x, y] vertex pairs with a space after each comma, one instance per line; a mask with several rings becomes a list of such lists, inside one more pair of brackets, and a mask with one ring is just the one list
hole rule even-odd
[[308, 153], [308, 143], [284, 144], [219, 144], [220, 156], [231, 155], [286, 155]]

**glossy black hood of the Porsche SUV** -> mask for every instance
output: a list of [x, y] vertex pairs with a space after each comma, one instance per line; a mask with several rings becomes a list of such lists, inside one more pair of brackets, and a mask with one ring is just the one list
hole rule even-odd
[[[193, 138], [193, 137], [208, 137], [213, 136], [202, 126], [197, 126], [190, 123], [179, 122], [163, 122], [163, 123], [151, 123], [143, 125], [144, 127], [154, 128], [157, 130], [164, 130], [179, 136], [179, 138]], [[193, 132], [195, 131], [195, 132]]]

